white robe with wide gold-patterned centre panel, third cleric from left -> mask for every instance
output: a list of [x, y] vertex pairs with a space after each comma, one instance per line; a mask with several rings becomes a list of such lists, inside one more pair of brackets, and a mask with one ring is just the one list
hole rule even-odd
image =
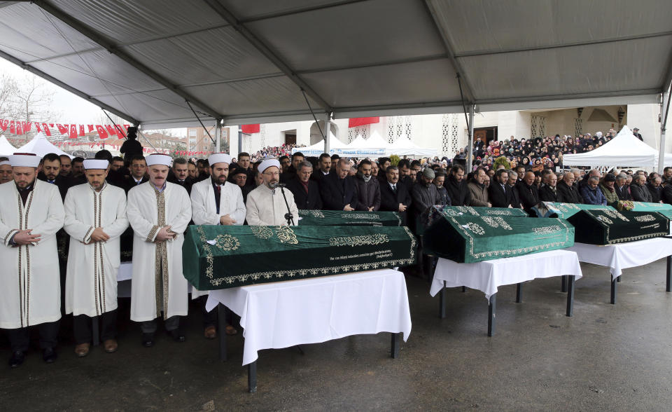
[[[188, 311], [188, 283], [182, 274], [182, 243], [184, 231], [191, 220], [191, 202], [185, 188], [166, 183], [163, 191], [164, 210], [159, 208], [155, 188], [151, 182], [135, 186], [128, 192], [127, 217], [133, 228], [133, 277], [131, 282], [131, 320], [145, 322], [158, 317], [186, 316]], [[167, 278], [163, 282], [163, 296], [157, 297], [156, 270], [160, 268], [154, 242], [160, 226], [159, 214], [164, 212], [165, 225], [172, 226], [176, 238], [168, 240]], [[159, 274], [160, 276], [160, 274]]]

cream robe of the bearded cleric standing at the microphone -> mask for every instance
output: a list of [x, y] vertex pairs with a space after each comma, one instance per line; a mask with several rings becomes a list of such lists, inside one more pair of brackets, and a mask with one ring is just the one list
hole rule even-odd
[[[250, 226], [281, 226], [287, 225], [285, 214], [287, 205], [282, 197], [280, 188], [275, 189], [275, 194], [265, 184], [257, 186], [247, 195], [247, 224]], [[299, 210], [294, 202], [292, 191], [285, 188], [285, 195], [289, 204], [289, 210], [294, 216], [294, 224], [299, 224]]]

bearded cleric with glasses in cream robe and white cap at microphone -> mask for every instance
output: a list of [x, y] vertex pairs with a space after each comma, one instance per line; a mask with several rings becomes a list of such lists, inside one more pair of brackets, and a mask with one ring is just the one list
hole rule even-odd
[[[293, 193], [279, 186], [280, 162], [277, 159], [266, 159], [259, 165], [258, 170], [263, 183], [247, 195], [247, 224], [250, 226], [299, 224], [299, 210], [294, 202]], [[291, 214], [293, 222], [288, 222], [288, 214]]]

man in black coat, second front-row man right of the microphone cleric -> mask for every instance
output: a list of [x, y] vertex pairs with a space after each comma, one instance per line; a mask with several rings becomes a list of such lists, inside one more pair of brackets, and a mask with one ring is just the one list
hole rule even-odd
[[350, 172], [350, 159], [339, 158], [336, 172], [320, 181], [320, 194], [325, 210], [356, 210], [357, 193]]

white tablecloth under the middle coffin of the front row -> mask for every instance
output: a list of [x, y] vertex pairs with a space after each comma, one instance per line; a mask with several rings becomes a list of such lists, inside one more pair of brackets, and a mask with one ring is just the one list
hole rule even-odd
[[476, 263], [457, 263], [440, 258], [436, 264], [430, 295], [435, 296], [444, 287], [466, 286], [478, 289], [486, 299], [497, 293], [503, 284], [517, 284], [540, 277], [574, 275], [582, 277], [575, 252], [549, 250], [503, 259]]

